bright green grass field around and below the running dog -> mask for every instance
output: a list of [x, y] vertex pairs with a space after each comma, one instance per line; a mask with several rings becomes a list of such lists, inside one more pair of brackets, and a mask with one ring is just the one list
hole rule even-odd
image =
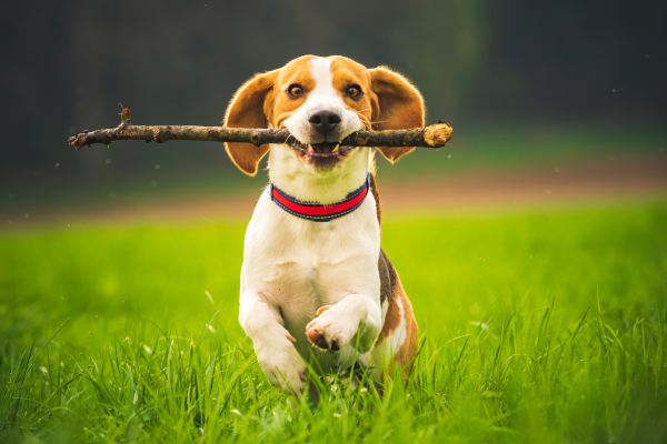
[[0, 441], [665, 442], [666, 226], [664, 201], [386, 221], [416, 367], [317, 408], [238, 326], [243, 224], [6, 232]]

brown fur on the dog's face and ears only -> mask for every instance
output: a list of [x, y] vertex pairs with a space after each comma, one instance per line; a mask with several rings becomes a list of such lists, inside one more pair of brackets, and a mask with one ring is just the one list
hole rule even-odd
[[[283, 128], [288, 119], [308, 98], [316, 87], [308, 62], [313, 56], [303, 56], [285, 67], [257, 74], [248, 80], [233, 95], [225, 114], [225, 127], [230, 128]], [[367, 69], [351, 59], [331, 57], [334, 88], [348, 109], [355, 111], [365, 128], [372, 130], [401, 130], [424, 127], [424, 100], [421, 94], [402, 75], [386, 67]], [[290, 98], [290, 84], [300, 84], [305, 93]], [[346, 95], [348, 85], [361, 87], [364, 95], [354, 100]], [[255, 175], [261, 158], [269, 145], [255, 147], [250, 143], [226, 143], [227, 153], [246, 174]], [[394, 162], [412, 151], [414, 147], [378, 148], [385, 158]], [[379, 212], [378, 212], [379, 214]]]

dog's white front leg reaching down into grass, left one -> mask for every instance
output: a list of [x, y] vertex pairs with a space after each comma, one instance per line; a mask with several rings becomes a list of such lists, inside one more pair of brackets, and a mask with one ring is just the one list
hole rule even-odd
[[292, 345], [295, 339], [283, 326], [279, 310], [260, 294], [241, 296], [239, 322], [255, 345], [257, 361], [269, 382], [300, 395], [306, 383], [306, 364]]

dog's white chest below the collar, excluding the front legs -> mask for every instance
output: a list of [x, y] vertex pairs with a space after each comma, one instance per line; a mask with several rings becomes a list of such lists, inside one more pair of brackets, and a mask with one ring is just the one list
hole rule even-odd
[[[246, 233], [241, 294], [260, 294], [282, 317], [299, 353], [307, 356], [306, 324], [320, 306], [355, 293], [372, 295], [379, 304], [379, 251], [380, 231], [370, 193], [350, 214], [311, 222], [285, 212], [265, 192]], [[346, 354], [338, 355], [345, 359]]]

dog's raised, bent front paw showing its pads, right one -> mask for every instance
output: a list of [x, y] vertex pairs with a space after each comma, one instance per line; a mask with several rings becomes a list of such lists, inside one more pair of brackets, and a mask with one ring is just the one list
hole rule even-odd
[[379, 301], [362, 294], [350, 294], [337, 304], [323, 305], [316, 316], [306, 325], [306, 334], [322, 350], [338, 351], [348, 343], [356, 346], [359, 333], [358, 351], [366, 353], [372, 349], [382, 327]]

